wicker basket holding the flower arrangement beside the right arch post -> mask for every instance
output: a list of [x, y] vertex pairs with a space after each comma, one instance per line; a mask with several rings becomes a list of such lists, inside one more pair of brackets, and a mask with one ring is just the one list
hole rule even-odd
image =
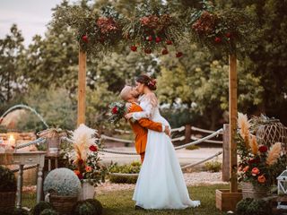
[[262, 199], [269, 194], [270, 189], [263, 186], [255, 186], [252, 183], [242, 182], [242, 197], [243, 199]]

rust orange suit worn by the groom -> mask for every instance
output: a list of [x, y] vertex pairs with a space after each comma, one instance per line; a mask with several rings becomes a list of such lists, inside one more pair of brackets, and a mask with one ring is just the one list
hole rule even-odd
[[[132, 103], [132, 106], [129, 108], [128, 112], [133, 113], [140, 111], [143, 111], [143, 108], [136, 103]], [[135, 150], [138, 154], [141, 155], [141, 159], [143, 162], [148, 129], [162, 132], [162, 125], [161, 123], [152, 122], [152, 120], [149, 120], [147, 118], [137, 120], [135, 121], [135, 123], [130, 122], [130, 125], [132, 126], [132, 129], [135, 133]]]

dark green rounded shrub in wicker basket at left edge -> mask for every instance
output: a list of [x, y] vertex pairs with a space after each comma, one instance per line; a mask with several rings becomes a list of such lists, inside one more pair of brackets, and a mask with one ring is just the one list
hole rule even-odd
[[11, 210], [15, 206], [16, 178], [9, 168], [0, 166], [0, 210]]

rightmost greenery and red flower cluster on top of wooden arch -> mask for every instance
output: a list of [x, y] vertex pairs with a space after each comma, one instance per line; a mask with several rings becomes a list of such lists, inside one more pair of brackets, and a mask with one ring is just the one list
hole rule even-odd
[[246, 11], [217, 10], [210, 2], [202, 1], [201, 10], [188, 13], [187, 29], [191, 38], [212, 52], [236, 54], [237, 49], [244, 50], [252, 42], [248, 35], [256, 22]]

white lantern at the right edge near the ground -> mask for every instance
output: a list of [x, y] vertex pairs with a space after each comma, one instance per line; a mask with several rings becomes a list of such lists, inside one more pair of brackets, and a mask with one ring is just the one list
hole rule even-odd
[[287, 210], [287, 169], [280, 176], [277, 176], [278, 198], [277, 209]]

